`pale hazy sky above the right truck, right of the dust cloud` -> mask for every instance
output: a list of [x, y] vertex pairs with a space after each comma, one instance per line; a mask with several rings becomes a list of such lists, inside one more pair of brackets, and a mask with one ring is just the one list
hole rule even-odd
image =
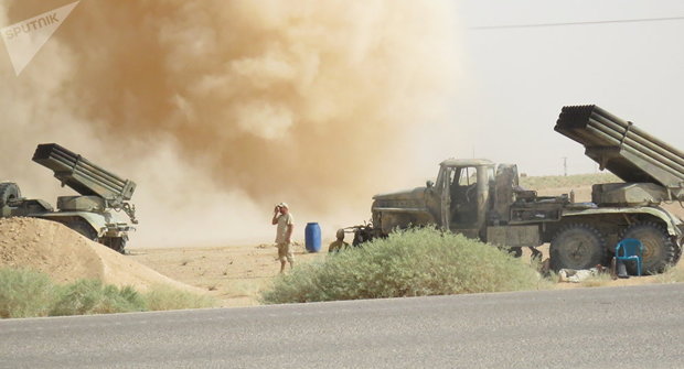
[[[458, 140], [443, 155], [521, 172], [596, 171], [553, 130], [565, 105], [596, 104], [684, 150], [684, 20], [481, 30], [475, 26], [684, 17], [681, 0], [461, 0]], [[453, 133], [452, 133], [453, 134]]]

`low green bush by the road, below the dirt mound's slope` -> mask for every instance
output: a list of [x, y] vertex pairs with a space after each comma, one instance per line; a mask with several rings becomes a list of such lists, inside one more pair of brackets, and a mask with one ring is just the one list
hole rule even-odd
[[87, 315], [141, 312], [145, 301], [130, 286], [118, 289], [98, 280], [78, 280], [62, 287], [50, 315]]

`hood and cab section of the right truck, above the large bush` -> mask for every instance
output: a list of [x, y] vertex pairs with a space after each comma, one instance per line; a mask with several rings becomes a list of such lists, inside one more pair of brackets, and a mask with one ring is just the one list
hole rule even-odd
[[439, 164], [436, 182], [374, 196], [373, 236], [436, 225], [517, 253], [522, 247], [543, 243], [542, 225], [558, 221], [567, 203], [567, 196], [538, 197], [521, 188], [514, 164], [448, 159]]

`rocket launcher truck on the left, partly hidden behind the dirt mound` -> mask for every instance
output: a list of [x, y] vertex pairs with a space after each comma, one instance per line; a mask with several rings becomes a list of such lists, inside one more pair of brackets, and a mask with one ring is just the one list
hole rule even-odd
[[122, 180], [87, 159], [56, 144], [39, 144], [33, 161], [81, 196], [57, 197], [57, 210], [42, 199], [25, 198], [17, 183], [0, 182], [0, 217], [34, 217], [65, 225], [84, 237], [125, 253], [133, 228], [117, 213], [138, 224], [136, 207], [128, 203], [136, 183]]

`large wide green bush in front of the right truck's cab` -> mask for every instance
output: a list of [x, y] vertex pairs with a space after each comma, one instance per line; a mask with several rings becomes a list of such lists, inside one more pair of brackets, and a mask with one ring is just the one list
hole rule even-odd
[[507, 253], [435, 228], [412, 229], [295, 268], [267, 304], [536, 289], [537, 272]]

